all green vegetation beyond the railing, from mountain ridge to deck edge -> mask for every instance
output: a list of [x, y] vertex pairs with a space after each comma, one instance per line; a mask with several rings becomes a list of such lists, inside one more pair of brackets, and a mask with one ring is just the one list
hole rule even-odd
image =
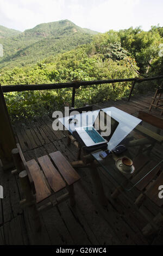
[[[41, 24], [10, 38], [9, 54], [0, 64], [17, 66], [14, 69], [3, 68], [0, 83], [41, 84], [132, 78], [138, 76], [136, 71], [145, 76], [163, 73], [163, 57], [158, 54], [159, 45], [163, 42], [161, 27], [152, 27], [148, 32], [140, 27], [131, 27], [93, 36], [90, 34], [94, 32], [85, 32], [87, 29], [83, 31], [65, 20]], [[22, 48], [19, 49], [21, 44]], [[34, 64], [27, 65], [30, 63]], [[150, 84], [150, 89], [158, 86], [152, 82]], [[80, 107], [85, 103], [120, 99], [129, 94], [130, 86], [128, 82], [80, 87], [76, 90], [75, 105]], [[142, 83], [136, 85], [135, 92], [143, 93], [148, 89], [149, 83]], [[71, 106], [71, 96], [72, 89], [64, 88], [7, 93], [5, 100], [15, 121], [24, 117], [52, 115], [56, 109]]]

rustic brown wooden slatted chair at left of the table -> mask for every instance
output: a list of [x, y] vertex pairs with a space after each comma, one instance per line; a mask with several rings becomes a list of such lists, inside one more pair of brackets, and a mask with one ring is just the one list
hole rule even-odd
[[[70, 198], [70, 204], [75, 204], [73, 184], [80, 179], [80, 176], [73, 169], [71, 164], [65, 159], [60, 151], [41, 156], [37, 159], [38, 163], [32, 159], [28, 162], [24, 159], [19, 144], [17, 148], [12, 149], [16, 170], [12, 174], [18, 173], [20, 178], [22, 192], [25, 196], [21, 200], [22, 206], [29, 206], [32, 210], [33, 220], [37, 231], [41, 229], [41, 222], [38, 212], [49, 209], [62, 201]], [[55, 200], [46, 202], [47, 198], [55, 195], [57, 192], [64, 190], [60, 197]]]

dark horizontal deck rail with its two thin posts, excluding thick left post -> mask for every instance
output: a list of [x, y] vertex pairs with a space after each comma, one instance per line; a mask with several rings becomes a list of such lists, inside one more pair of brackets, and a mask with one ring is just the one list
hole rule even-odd
[[2, 90], [3, 90], [3, 93], [8, 93], [8, 92], [23, 92], [28, 90], [51, 90], [51, 89], [61, 89], [61, 88], [73, 88], [71, 106], [74, 107], [76, 89], [78, 89], [80, 86], [92, 86], [96, 84], [109, 84], [109, 83], [119, 83], [119, 82], [133, 82], [130, 88], [130, 94], [128, 97], [128, 101], [129, 101], [136, 83], [152, 81], [152, 80], [160, 80], [160, 79], [163, 79], [163, 75], [148, 77], [148, 78], [137, 77], [137, 78], [95, 80], [95, 81], [74, 80], [73, 82], [68, 82], [68, 83], [52, 83], [52, 84], [19, 84], [19, 85], [16, 84], [11, 86], [2, 86]]

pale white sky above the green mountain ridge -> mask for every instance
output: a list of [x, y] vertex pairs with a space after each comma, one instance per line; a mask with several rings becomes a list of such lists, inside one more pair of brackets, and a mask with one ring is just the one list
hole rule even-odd
[[19, 31], [70, 20], [98, 32], [163, 26], [163, 0], [0, 0], [0, 25]]

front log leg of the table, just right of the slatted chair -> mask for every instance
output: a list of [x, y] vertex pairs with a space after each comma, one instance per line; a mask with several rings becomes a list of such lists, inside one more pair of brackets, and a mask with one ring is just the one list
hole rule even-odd
[[96, 191], [98, 194], [99, 202], [103, 206], [106, 206], [106, 205], [108, 205], [108, 200], [106, 199], [106, 196], [104, 193], [104, 188], [103, 188], [102, 181], [101, 181], [101, 178], [100, 178], [98, 170], [97, 170], [95, 160], [91, 163], [90, 170], [91, 170], [92, 180], [93, 180], [93, 183], [95, 184], [95, 188], [96, 188]]

